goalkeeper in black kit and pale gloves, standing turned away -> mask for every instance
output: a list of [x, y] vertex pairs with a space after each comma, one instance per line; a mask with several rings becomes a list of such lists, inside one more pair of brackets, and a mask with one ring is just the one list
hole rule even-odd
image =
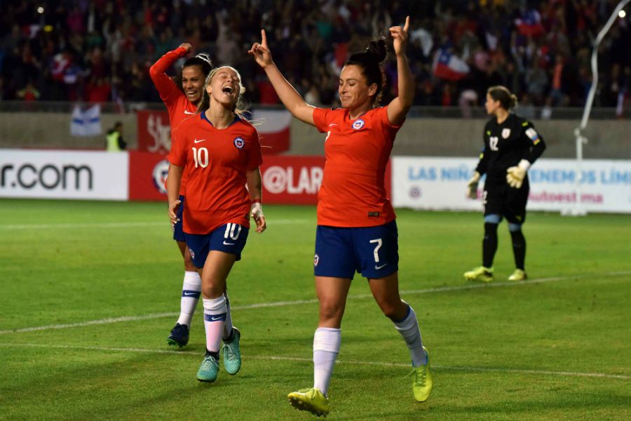
[[512, 112], [517, 97], [503, 86], [492, 86], [487, 91], [487, 114], [491, 119], [484, 126], [484, 149], [473, 177], [468, 182], [468, 196], [477, 198], [477, 183], [482, 174], [484, 182], [484, 239], [482, 240], [482, 266], [464, 273], [469, 281], [493, 281], [493, 259], [497, 250], [497, 226], [502, 217], [508, 221], [513, 239], [515, 272], [509, 281], [526, 279], [524, 260], [526, 239], [522, 224], [526, 220], [529, 182], [528, 168], [543, 154], [545, 142], [534, 126]]

